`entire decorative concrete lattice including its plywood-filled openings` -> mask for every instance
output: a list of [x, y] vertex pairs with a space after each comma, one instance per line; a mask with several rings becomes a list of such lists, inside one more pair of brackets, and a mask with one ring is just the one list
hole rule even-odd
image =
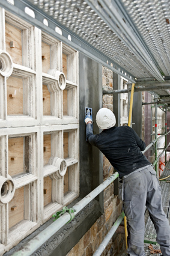
[[0, 13], [3, 254], [79, 196], [79, 65], [74, 49]]

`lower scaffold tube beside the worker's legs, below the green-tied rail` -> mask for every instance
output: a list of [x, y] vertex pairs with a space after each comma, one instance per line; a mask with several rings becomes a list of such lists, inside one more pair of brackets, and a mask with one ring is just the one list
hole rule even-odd
[[112, 236], [114, 236], [118, 226], [121, 224], [121, 221], [123, 221], [124, 216], [124, 212], [122, 212], [117, 221], [114, 223], [111, 230], [109, 231], [109, 233], [106, 235], [105, 239], [102, 241], [102, 243], [100, 243], [99, 248], [96, 250], [96, 252], [94, 252], [93, 256], [100, 256], [102, 254], [102, 252], [108, 245], [109, 241], [111, 240]]

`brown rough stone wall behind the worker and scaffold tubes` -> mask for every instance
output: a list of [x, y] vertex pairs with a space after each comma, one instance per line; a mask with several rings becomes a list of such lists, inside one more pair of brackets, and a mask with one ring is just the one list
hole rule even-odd
[[[103, 67], [103, 88], [110, 90], [113, 88], [113, 76], [109, 69]], [[112, 96], [103, 96], [103, 107], [113, 110]], [[114, 168], [108, 159], [103, 156], [103, 175], [104, 180], [114, 173]], [[110, 184], [104, 190], [104, 213], [88, 232], [79, 240], [74, 248], [68, 252], [67, 256], [91, 256], [99, 247], [102, 240], [108, 234], [114, 222], [122, 212], [122, 201], [114, 195], [114, 183]], [[118, 228], [118, 230], [122, 230]], [[122, 234], [123, 233], [123, 234]], [[102, 256], [123, 256], [126, 252], [126, 242], [124, 231], [117, 231], [108, 246], [105, 248]]]

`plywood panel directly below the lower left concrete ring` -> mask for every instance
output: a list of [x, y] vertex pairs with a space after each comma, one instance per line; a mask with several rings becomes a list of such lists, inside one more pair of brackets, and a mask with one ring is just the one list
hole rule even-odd
[[[16, 189], [16, 192], [14, 194], [13, 199], [10, 201], [8, 205], [9, 209], [9, 228], [16, 225], [18, 222], [23, 221], [24, 217], [24, 187], [20, 187], [19, 189]], [[13, 207], [16, 207], [15, 210]]]

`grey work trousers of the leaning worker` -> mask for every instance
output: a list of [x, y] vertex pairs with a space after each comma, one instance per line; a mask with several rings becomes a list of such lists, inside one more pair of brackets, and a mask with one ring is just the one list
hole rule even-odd
[[157, 233], [157, 243], [163, 256], [170, 256], [170, 227], [162, 207], [162, 195], [156, 172], [149, 166], [124, 178], [124, 213], [127, 218], [128, 249], [130, 256], [145, 256], [145, 206]]

